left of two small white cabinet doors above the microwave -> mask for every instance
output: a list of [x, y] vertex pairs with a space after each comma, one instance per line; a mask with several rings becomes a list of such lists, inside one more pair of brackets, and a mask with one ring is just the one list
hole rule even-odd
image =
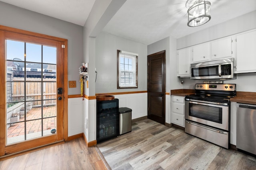
[[209, 59], [209, 43], [196, 45], [192, 50], [192, 62], [197, 63], [199, 61], [207, 61]]

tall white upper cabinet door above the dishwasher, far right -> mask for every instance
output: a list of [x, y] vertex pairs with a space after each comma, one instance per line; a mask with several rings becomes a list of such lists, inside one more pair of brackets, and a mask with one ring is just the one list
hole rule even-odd
[[236, 35], [236, 73], [256, 72], [256, 30]]

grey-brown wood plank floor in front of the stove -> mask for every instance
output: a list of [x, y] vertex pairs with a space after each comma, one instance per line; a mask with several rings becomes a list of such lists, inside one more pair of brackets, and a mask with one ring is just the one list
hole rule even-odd
[[99, 143], [115, 170], [255, 170], [256, 158], [188, 135], [150, 119], [133, 123], [132, 132]]

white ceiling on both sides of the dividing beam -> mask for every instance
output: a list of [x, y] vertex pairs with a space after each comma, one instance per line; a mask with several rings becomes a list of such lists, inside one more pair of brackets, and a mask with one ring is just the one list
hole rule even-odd
[[[60, 20], [84, 26], [95, 0], [0, 0]], [[149, 45], [180, 38], [256, 10], [256, 0], [209, 0], [212, 19], [187, 26], [186, 0], [127, 0], [103, 31]], [[255, 17], [256, 18], [256, 17]]]

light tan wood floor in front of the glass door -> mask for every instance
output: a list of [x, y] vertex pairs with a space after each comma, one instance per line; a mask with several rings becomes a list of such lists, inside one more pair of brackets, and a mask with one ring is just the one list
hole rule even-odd
[[107, 170], [98, 148], [78, 138], [0, 161], [0, 170]]

